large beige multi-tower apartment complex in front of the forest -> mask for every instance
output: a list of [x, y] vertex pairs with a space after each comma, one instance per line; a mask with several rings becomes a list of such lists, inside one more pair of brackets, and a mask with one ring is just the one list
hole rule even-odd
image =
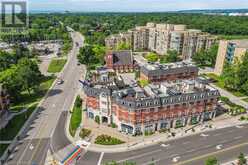
[[[150, 50], [165, 55], [168, 50], [176, 50], [185, 60], [200, 50], [209, 49], [217, 39], [200, 30], [187, 29], [186, 25], [174, 24], [147, 23], [127, 33], [132, 36], [129, 42], [132, 43], [133, 51]], [[118, 37], [115, 40], [119, 40]], [[115, 47], [110, 46], [109, 42], [106, 40], [107, 47]]]

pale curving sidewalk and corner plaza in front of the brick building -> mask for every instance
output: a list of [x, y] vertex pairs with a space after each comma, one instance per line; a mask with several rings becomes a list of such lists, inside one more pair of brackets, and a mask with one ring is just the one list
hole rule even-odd
[[[186, 126], [183, 128], [171, 129], [170, 132], [174, 132], [176, 134], [175, 137], [171, 137], [171, 133], [158, 133], [158, 132], [150, 136], [136, 136], [135, 137], [135, 136], [123, 134], [119, 132], [117, 128], [111, 128], [111, 127], [108, 127], [107, 125], [98, 125], [92, 119], [88, 119], [86, 115], [83, 115], [83, 116], [84, 116], [82, 119], [83, 127], [90, 129], [92, 131], [91, 136], [90, 136], [91, 145], [88, 148], [88, 150], [94, 151], [94, 152], [105, 152], [105, 153], [116, 153], [116, 152], [125, 152], [129, 150], [136, 150], [136, 149], [147, 147], [149, 145], [158, 144], [161, 142], [166, 142], [166, 141], [175, 140], [175, 139], [179, 139], [179, 138], [183, 138], [187, 136], [192, 136], [192, 135], [207, 132], [207, 131], [212, 131], [216, 129], [232, 127], [232, 126], [237, 126], [237, 125], [248, 123], [244, 121], [239, 121], [240, 116], [232, 117], [229, 115], [222, 115], [220, 117], [215, 118], [212, 121], [206, 122], [201, 125]], [[210, 125], [211, 127], [206, 127]], [[193, 131], [192, 131], [192, 128], [194, 128]], [[187, 133], [185, 133], [186, 130], [187, 130]], [[79, 137], [79, 131], [80, 129], [77, 130], [75, 138], [70, 138], [72, 140], [72, 143], [74, 144], [76, 143], [76, 141], [81, 140], [81, 138]], [[95, 144], [94, 143], [95, 138], [101, 134], [107, 134], [107, 135], [116, 137], [120, 140], [125, 141], [126, 143], [121, 144], [121, 145], [112, 145], [112, 146]]]

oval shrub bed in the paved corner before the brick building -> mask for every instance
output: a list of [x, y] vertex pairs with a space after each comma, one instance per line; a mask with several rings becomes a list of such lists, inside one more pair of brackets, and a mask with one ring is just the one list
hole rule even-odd
[[123, 144], [125, 142], [120, 139], [111, 137], [109, 135], [99, 135], [96, 138], [95, 143], [101, 145], [117, 145], [117, 144]]

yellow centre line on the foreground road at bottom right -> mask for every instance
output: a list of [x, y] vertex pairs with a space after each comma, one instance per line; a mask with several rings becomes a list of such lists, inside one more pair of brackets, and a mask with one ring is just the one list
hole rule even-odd
[[201, 159], [204, 159], [204, 158], [208, 158], [210, 156], [216, 156], [216, 154], [220, 154], [220, 153], [223, 153], [223, 152], [226, 152], [226, 151], [230, 151], [232, 149], [237, 149], [239, 147], [243, 147], [243, 146], [246, 146], [246, 145], [248, 145], [248, 142], [242, 143], [242, 144], [238, 144], [238, 145], [235, 145], [235, 146], [232, 146], [232, 147], [223, 149], [223, 150], [219, 150], [219, 151], [215, 151], [215, 152], [212, 152], [212, 153], [208, 153], [208, 154], [205, 154], [205, 155], [196, 156], [196, 157], [194, 157], [192, 159], [188, 159], [188, 160], [185, 160], [183, 162], [177, 163], [176, 165], [184, 165], [186, 163], [190, 163], [190, 162], [193, 162], [193, 161], [197, 161], [197, 160], [201, 160]]

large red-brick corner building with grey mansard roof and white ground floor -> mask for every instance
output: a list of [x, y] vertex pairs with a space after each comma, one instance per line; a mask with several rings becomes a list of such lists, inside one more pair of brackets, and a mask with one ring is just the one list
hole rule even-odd
[[[118, 130], [129, 134], [154, 132], [161, 129], [193, 125], [215, 117], [218, 90], [202, 79], [174, 83], [118, 85], [87, 81], [87, 116], [100, 118], [100, 123], [115, 123]], [[124, 84], [124, 83], [121, 83]]]

